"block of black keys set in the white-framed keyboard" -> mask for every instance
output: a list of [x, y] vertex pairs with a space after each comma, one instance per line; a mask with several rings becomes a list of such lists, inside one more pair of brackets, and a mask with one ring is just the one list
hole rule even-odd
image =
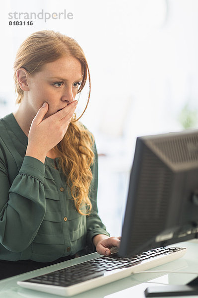
[[87, 280], [94, 279], [96, 277], [103, 276], [105, 272], [129, 268], [142, 263], [142, 261], [151, 260], [157, 256], [172, 254], [182, 249], [184, 248], [160, 247], [136, 254], [131, 258], [122, 258], [117, 254], [112, 254], [108, 257], [103, 256], [91, 261], [41, 275], [24, 282], [69, 287]]

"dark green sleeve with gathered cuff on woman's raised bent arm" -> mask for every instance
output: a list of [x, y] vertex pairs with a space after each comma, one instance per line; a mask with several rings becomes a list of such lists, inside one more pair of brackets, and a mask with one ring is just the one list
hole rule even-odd
[[0, 156], [0, 244], [12, 252], [26, 249], [45, 216], [44, 164], [25, 156], [10, 185]]

